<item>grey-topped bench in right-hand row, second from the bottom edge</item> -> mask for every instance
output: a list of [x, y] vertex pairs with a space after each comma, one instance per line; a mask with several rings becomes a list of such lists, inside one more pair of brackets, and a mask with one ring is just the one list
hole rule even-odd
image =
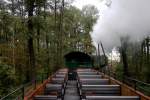
[[119, 96], [119, 85], [82, 85], [80, 88], [80, 96], [84, 97], [87, 94], [97, 96]]

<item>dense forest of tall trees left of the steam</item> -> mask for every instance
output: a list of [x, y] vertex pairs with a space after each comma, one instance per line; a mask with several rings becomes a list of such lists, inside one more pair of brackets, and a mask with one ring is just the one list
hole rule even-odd
[[63, 67], [72, 50], [92, 54], [98, 10], [64, 0], [0, 1], [0, 97]]

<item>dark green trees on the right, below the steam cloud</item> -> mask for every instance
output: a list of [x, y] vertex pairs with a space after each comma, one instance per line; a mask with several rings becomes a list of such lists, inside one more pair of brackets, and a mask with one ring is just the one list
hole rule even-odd
[[[150, 82], [150, 54], [149, 50], [149, 37], [138, 42], [130, 42], [129, 37], [124, 38], [124, 44], [122, 44], [122, 50], [126, 53], [126, 66], [128, 66], [128, 74], [130, 77], [143, 82]], [[122, 55], [122, 52], [120, 52]], [[123, 58], [121, 57], [121, 62], [123, 63]], [[124, 66], [124, 67], [126, 67]], [[117, 71], [118, 72], [118, 71]]]

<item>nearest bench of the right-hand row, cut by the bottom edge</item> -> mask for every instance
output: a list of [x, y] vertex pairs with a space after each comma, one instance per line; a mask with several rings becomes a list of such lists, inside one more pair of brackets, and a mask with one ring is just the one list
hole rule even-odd
[[140, 100], [138, 96], [86, 96], [82, 100]]

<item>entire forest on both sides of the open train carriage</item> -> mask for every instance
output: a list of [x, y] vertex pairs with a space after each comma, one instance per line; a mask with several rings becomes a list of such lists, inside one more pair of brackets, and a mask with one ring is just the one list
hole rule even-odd
[[73, 1], [0, 0], [0, 98], [63, 68], [71, 51], [90, 56], [97, 51], [95, 68], [121, 81], [126, 76], [150, 83], [150, 36], [138, 42], [121, 37], [120, 62], [107, 61], [105, 45], [97, 50], [91, 37], [99, 10], [79, 9]]

